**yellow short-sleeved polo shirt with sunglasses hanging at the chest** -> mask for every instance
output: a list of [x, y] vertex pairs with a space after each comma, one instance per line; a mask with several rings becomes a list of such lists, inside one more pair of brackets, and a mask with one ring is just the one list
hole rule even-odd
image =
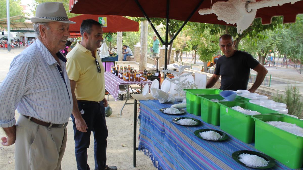
[[66, 55], [66, 71], [70, 80], [77, 81], [75, 95], [77, 100], [101, 101], [105, 97], [104, 67], [97, 51], [101, 73], [98, 72], [95, 58], [91, 51], [78, 41]]

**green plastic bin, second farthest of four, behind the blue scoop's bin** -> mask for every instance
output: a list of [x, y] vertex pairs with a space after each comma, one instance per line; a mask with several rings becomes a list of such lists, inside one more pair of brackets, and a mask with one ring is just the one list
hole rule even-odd
[[[224, 98], [220, 94], [213, 95], [198, 95], [201, 100], [201, 119], [206, 123], [213, 125], [220, 125], [220, 105], [217, 102], [211, 101], [211, 99], [223, 100]], [[250, 99], [237, 96], [235, 101], [249, 101]]]

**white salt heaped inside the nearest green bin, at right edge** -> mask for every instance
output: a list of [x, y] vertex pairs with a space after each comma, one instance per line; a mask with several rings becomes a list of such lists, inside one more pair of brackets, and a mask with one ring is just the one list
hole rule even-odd
[[290, 132], [298, 136], [303, 136], [303, 128], [297, 126], [296, 124], [281, 121], [268, 121], [266, 123], [275, 126], [279, 129], [285, 130], [286, 132]]

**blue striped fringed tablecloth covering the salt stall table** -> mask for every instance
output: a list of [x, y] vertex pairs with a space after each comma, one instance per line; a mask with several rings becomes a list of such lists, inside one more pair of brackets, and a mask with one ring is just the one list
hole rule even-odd
[[[158, 100], [140, 101], [139, 150], [158, 169], [249, 169], [235, 162], [231, 155], [238, 150], [258, 151], [252, 144], [246, 144], [229, 135], [221, 142], [203, 140], [195, 136], [198, 129], [220, 130], [202, 121], [200, 116], [185, 113], [169, 115], [159, 111], [172, 103], [161, 104]], [[191, 117], [202, 122], [199, 126], [181, 126], [172, 122], [175, 117]], [[224, 131], [223, 131], [224, 132]], [[225, 132], [226, 133], [226, 132]], [[273, 169], [289, 169], [276, 161]]]

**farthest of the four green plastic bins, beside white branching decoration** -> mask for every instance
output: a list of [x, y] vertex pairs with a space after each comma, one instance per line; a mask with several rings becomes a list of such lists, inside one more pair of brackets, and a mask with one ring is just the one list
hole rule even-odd
[[201, 115], [201, 100], [197, 95], [219, 94], [219, 89], [183, 89], [186, 92], [186, 110], [188, 113]]

